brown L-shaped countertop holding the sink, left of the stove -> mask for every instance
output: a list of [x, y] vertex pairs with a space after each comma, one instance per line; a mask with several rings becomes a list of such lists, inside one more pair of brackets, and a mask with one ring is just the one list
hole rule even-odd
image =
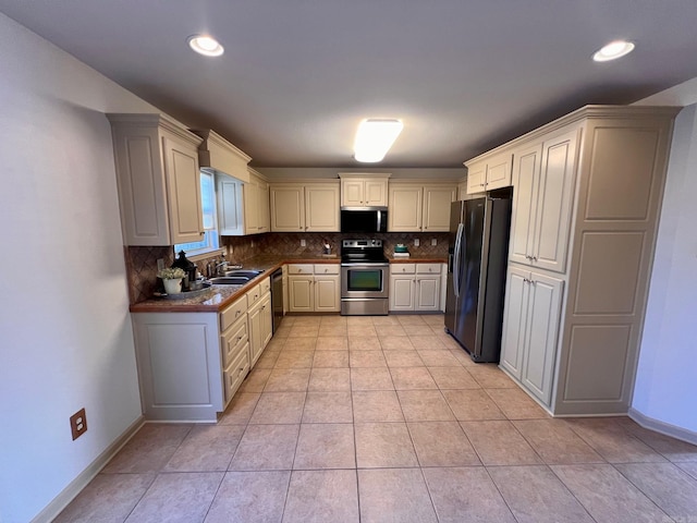
[[151, 297], [131, 305], [132, 313], [217, 313], [225, 308], [248, 290], [285, 264], [339, 264], [339, 257], [298, 254], [290, 256], [255, 256], [244, 262], [244, 268], [264, 270], [264, 276], [255, 278], [243, 287], [212, 285], [208, 291], [193, 297], [167, 300]]

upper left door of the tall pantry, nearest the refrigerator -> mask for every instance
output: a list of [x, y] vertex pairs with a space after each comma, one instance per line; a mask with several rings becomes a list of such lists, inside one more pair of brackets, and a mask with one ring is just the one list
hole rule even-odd
[[510, 262], [526, 265], [531, 262], [541, 161], [542, 144], [516, 150], [513, 155]]

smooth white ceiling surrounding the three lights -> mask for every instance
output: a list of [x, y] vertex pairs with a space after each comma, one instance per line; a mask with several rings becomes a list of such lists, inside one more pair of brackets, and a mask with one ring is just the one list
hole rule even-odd
[[[695, 0], [0, 0], [0, 12], [257, 167], [367, 167], [363, 118], [405, 127], [380, 167], [458, 167], [587, 104], [697, 76]], [[218, 59], [186, 38], [210, 33]], [[590, 57], [636, 42], [609, 63]]]

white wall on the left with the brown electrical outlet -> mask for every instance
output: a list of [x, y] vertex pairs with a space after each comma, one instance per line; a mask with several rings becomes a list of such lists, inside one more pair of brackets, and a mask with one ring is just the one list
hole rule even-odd
[[0, 522], [17, 523], [140, 416], [103, 113], [154, 108], [2, 14], [0, 71]]

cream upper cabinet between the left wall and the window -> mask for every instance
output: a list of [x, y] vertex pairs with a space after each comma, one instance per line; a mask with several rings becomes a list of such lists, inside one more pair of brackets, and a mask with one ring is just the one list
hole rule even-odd
[[200, 241], [201, 138], [163, 114], [108, 117], [126, 245]]

